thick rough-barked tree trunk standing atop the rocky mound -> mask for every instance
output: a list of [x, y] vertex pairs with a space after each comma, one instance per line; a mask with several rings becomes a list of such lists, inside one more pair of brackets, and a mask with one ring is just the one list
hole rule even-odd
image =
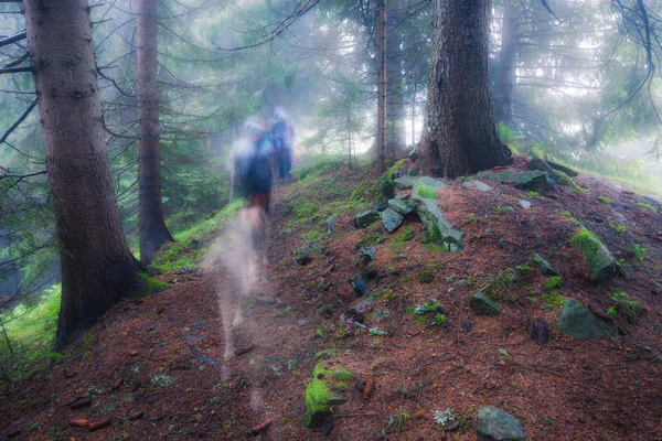
[[512, 163], [499, 141], [490, 93], [490, 0], [433, 0], [423, 171], [456, 178]]

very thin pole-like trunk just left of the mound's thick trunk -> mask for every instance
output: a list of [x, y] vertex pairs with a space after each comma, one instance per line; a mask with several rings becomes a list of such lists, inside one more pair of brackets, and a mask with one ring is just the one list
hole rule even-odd
[[386, 4], [377, 2], [377, 171], [386, 171]]

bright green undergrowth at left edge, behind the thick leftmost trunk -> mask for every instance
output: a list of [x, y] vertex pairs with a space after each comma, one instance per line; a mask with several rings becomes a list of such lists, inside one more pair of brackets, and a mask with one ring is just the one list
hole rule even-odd
[[[39, 303], [19, 304], [0, 314], [0, 383], [24, 378], [45, 367], [53, 354], [61, 284], [44, 290]], [[8, 343], [9, 340], [9, 343]], [[9, 378], [7, 378], [9, 377]]]

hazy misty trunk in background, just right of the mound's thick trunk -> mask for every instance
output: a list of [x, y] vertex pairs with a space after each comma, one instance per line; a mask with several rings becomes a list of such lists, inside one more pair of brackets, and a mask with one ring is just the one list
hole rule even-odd
[[501, 25], [501, 51], [499, 72], [494, 88], [494, 118], [510, 126], [513, 118], [513, 87], [515, 85], [515, 61], [517, 56], [517, 4], [505, 1]]

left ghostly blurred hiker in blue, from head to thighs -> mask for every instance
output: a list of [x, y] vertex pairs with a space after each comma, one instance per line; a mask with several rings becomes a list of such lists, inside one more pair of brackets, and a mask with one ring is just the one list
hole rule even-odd
[[233, 189], [248, 202], [242, 216], [252, 227], [250, 235], [256, 249], [263, 248], [266, 234], [271, 196], [271, 157], [267, 125], [260, 118], [248, 118], [242, 138], [232, 149], [231, 173]]

